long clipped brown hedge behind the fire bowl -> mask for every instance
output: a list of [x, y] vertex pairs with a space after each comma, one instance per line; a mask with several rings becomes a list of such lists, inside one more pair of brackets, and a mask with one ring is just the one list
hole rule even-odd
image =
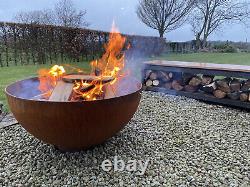
[[[158, 55], [165, 47], [162, 38], [124, 36], [131, 45], [130, 56]], [[103, 31], [0, 22], [0, 66], [91, 60], [104, 52], [108, 39], [109, 33]]]

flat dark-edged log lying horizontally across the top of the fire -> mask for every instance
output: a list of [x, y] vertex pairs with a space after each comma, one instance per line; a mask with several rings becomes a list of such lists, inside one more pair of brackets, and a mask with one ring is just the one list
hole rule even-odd
[[93, 75], [66, 75], [63, 78], [63, 81], [68, 83], [74, 83], [74, 82], [80, 82], [80, 81], [86, 81], [86, 82], [102, 82], [102, 83], [108, 83], [114, 80], [111, 76], [93, 76]]

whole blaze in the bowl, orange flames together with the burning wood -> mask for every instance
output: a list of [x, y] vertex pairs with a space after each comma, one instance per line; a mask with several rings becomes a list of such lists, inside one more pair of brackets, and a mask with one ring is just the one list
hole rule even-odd
[[[83, 75], [79, 68], [76, 74], [67, 75], [63, 66], [55, 65], [50, 70], [39, 71], [39, 90], [42, 99], [50, 101], [93, 101], [116, 96], [117, 82], [125, 77], [122, 53], [126, 38], [113, 25], [105, 54], [91, 62], [92, 71]], [[79, 74], [81, 73], [81, 74]]]

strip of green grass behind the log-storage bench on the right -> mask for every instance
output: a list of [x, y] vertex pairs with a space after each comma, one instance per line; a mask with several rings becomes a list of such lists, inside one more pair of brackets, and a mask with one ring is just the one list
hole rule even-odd
[[160, 57], [155, 57], [154, 59], [216, 64], [241, 64], [250, 66], [250, 53], [164, 54]]

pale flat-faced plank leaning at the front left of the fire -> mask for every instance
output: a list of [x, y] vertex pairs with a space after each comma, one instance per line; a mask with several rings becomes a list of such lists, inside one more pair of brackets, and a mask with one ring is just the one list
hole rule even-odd
[[58, 81], [56, 87], [54, 88], [49, 101], [69, 101], [74, 84], [66, 83], [64, 81]]

